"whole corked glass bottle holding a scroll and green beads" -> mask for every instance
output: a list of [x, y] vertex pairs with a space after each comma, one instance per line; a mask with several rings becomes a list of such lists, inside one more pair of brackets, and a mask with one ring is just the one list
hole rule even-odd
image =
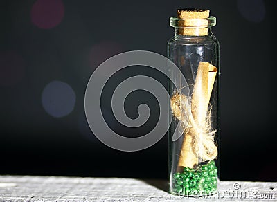
[[[219, 42], [209, 10], [178, 10], [170, 18], [175, 36], [168, 41], [173, 120], [169, 134], [169, 192], [201, 196], [217, 191], [220, 135]], [[181, 73], [180, 73], [181, 72]], [[184, 76], [184, 80], [181, 77]]]

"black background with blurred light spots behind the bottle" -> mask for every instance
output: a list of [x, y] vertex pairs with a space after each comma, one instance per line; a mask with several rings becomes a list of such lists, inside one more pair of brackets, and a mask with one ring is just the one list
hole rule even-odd
[[[220, 41], [221, 179], [277, 181], [276, 46], [273, 1], [1, 1], [0, 174], [167, 178], [168, 139], [141, 152], [111, 149], [91, 134], [84, 91], [105, 59], [127, 50], [166, 56], [177, 8], [206, 8], [217, 17]], [[127, 69], [110, 80], [140, 73], [166, 84], [148, 68]], [[148, 93], [127, 99], [136, 118]], [[125, 136], [144, 128], [118, 125], [110, 101], [102, 103], [109, 125]]]

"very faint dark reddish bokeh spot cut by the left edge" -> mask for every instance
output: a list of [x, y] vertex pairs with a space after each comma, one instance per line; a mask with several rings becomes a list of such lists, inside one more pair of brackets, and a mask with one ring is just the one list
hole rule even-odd
[[17, 84], [25, 74], [23, 57], [15, 51], [0, 52], [0, 85], [12, 86]]

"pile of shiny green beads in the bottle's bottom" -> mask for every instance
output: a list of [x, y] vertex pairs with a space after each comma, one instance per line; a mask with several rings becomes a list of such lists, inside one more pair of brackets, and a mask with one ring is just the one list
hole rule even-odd
[[213, 160], [197, 169], [184, 167], [184, 171], [175, 173], [173, 178], [174, 192], [179, 195], [206, 195], [217, 190], [217, 167]]

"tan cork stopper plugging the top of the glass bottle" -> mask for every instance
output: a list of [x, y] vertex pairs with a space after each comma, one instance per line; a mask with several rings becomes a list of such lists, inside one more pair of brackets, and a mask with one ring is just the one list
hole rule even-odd
[[204, 36], [208, 35], [208, 17], [210, 10], [185, 8], [177, 10], [179, 35]]

